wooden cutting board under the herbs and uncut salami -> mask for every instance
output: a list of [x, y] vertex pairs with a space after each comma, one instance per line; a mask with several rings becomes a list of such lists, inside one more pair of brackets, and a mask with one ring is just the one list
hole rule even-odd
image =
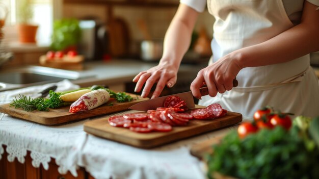
[[[107, 104], [99, 106], [95, 109], [78, 113], [70, 113], [69, 106], [58, 109], [50, 109], [49, 111], [26, 112], [22, 109], [15, 109], [14, 107], [9, 107], [10, 104], [1, 105], [0, 112], [44, 125], [56, 125], [65, 122], [76, 121], [79, 119], [85, 119], [88, 117], [98, 116], [102, 114], [110, 114], [118, 111], [127, 110], [130, 106], [148, 99], [142, 98], [141, 96], [137, 96], [135, 94], [130, 95], [133, 97], [134, 100], [125, 103], [117, 103], [116, 100], [110, 100]], [[108, 106], [110, 103], [113, 103], [113, 106]]]

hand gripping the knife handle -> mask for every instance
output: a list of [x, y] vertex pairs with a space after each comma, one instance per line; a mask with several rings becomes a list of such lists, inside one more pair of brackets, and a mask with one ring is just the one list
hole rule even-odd
[[217, 62], [201, 69], [191, 84], [193, 96], [201, 98], [199, 88], [204, 84], [208, 88], [209, 96], [216, 96], [217, 92], [224, 93], [233, 88], [233, 80], [242, 69], [240, 65], [240, 53], [231, 53], [219, 59]]

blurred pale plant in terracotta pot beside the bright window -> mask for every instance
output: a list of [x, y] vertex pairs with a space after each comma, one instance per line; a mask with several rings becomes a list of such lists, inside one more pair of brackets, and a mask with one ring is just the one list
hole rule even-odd
[[32, 0], [17, 1], [18, 34], [21, 43], [36, 43], [38, 25], [31, 24], [33, 18]]

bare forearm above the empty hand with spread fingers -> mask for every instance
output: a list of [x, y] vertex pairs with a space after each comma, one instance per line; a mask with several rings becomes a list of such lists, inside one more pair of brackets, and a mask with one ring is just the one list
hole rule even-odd
[[[187, 9], [187, 10], [185, 10]], [[187, 52], [198, 13], [181, 4], [164, 39], [164, 52], [159, 64], [171, 64], [178, 69]]]

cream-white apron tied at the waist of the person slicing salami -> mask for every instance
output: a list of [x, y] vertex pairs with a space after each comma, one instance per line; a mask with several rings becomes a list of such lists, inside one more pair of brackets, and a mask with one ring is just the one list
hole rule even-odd
[[[207, 6], [216, 18], [211, 42], [214, 56], [209, 64], [294, 26], [282, 0], [208, 0]], [[199, 105], [219, 103], [247, 117], [267, 105], [295, 116], [319, 116], [319, 85], [309, 55], [286, 63], [244, 68], [236, 79], [238, 87], [216, 97], [203, 96]]]

